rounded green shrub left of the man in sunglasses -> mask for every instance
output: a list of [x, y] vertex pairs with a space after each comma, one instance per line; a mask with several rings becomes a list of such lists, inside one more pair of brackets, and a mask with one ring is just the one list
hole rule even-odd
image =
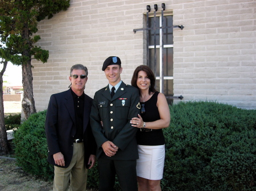
[[32, 175], [52, 179], [53, 166], [47, 162], [48, 147], [44, 122], [46, 111], [32, 114], [14, 134], [15, 156], [19, 167]]

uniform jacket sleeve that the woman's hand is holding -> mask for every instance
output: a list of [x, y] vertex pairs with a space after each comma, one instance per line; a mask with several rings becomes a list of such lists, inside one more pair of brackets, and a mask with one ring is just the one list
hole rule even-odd
[[137, 133], [137, 128], [131, 126], [130, 120], [133, 117], [138, 117], [138, 114], [140, 112], [138, 107], [139, 90], [137, 88], [131, 88], [131, 91], [129, 90], [129, 92], [131, 92], [131, 103], [127, 116], [127, 123], [113, 140], [113, 143], [117, 145], [121, 150], [125, 150], [126, 146], [129, 145], [131, 140], [134, 139]]

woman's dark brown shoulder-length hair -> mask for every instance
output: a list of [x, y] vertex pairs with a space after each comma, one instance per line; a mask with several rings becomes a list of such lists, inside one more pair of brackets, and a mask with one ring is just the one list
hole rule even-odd
[[139, 71], [144, 71], [147, 74], [147, 77], [150, 79], [150, 88], [149, 88], [149, 92], [156, 92], [155, 90], [155, 75], [152, 72], [152, 70], [150, 69], [150, 67], [145, 66], [145, 65], [141, 65], [138, 66], [133, 73], [133, 78], [131, 78], [131, 86], [137, 87], [137, 79], [138, 79], [138, 73]]

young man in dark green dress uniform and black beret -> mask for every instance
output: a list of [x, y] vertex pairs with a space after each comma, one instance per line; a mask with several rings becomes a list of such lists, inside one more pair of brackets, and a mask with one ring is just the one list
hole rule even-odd
[[137, 88], [121, 81], [122, 67], [118, 57], [107, 58], [102, 70], [109, 84], [94, 95], [90, 113], [92, 131], [97, 143], [99, 190], [114, 190], [115, 173], [117, 173], [121, 189], [135, 191], [138, 159], [135, 138], [137, 128], [131, 126], [130, 120], [138, 116], [141, 108], [139, 92]]

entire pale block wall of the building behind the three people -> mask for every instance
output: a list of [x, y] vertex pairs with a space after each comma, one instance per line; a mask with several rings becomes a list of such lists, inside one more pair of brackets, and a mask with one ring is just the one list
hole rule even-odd
[[173, 10], [174, 94], [188, 100], [214, 100], [256, 108], [255, 0], [71, 0], [61, 11], [39, 23], [38, 45], [49, 50], [47, 63], [33, 61], [36, 109], [47, 108], [49, 97], [68, 90], [69, 69], [88, 67], [86, 94], [108, 84], [102, 63], [121, 58], [121, 78], [130, 84], [135, 67], [146, 64], [143, 13], [154, 4]]

